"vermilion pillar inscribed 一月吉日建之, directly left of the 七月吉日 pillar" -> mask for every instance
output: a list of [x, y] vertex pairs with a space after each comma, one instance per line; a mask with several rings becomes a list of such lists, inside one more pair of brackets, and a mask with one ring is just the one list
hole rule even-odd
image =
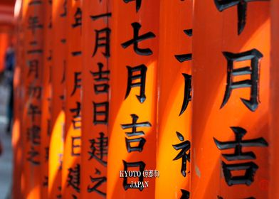
[[[105, 198], [107, 193], [107, 125], [112, 35], [110, 4], [111, 1], [83, 1], [81, 198]], [[101, 43], [104, 45], [100, 45]], [[105, 114], [102, 115], [101, 112]]]

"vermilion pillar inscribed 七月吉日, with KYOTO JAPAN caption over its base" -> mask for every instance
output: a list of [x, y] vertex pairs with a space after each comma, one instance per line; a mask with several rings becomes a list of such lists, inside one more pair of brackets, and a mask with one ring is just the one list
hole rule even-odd
[[120, 171], [156, 169], [159, 1], [113, 1], [112, 17], [107, 198], [154, 198], [155, 178]]

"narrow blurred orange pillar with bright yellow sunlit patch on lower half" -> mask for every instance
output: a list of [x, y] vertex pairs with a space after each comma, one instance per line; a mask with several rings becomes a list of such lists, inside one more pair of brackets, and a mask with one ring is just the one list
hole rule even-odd
[[53, 1], [52, 6], [52, 50], [51, 82], [51, 140], [49, 146], [48, 165], [48, 197], [61, 197], [62, 160], [65, 132], [65, 68], [67, 53], [67, 1]]

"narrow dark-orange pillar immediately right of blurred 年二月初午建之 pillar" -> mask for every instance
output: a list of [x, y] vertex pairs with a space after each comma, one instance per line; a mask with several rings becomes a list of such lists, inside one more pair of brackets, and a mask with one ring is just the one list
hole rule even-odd
[[51, 137], [52, 4], [44, 9], [43, 85], [41, 88], [41, 198], [48, 198], [49, 143]]

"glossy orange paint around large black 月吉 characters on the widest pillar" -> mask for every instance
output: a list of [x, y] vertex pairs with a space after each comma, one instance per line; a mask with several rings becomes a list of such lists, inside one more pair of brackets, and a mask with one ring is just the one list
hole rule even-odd
[[[222, 154], [234, 149], [219, 150], [219, 141], [234, 141], [230, 127], [242, 127], [247, 133], [243, 140], [263, 138], [269, 143], [270, 124], [270, 4], [268, 1], [248, 2], [246, 25], [238, 35], [236, 6], [219, 11], [214, 1], [194, 1], [193, 40], [193, 118], [191, 125], [191, 198], [267, 198], [269, 182], [268, 147], [244, 147], [253, 151], [256, 159], [226, 161]], [[221, 107], [227, 85], [227, 60], [223, 52], [243, 53], [256, 49], [259, 59], [258, 108], [253, 112], [240, 98], [250, 98], [249, 87], [233, 89], [228, 102]], [[233, 62], [234, 68], [251, 66], [249, 60]], [[233, 82], [250, 79], [236, 74]], [[258, 170], [251, 185], [231, 185], [225, 181], [221, 162], [247, 163], [252, 161]], [[232, 171], [232, 176], [243, 176]]]

